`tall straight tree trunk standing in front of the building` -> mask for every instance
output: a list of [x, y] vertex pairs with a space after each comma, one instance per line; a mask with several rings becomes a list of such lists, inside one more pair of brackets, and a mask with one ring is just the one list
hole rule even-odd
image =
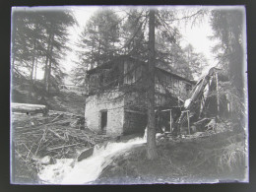
[[148, 131], [147, 131], [147, 158], [158, 158], [156, 143], [155, 119], [155, 10], [150, 10], [149, 20], [149, 74], [148, 74]]

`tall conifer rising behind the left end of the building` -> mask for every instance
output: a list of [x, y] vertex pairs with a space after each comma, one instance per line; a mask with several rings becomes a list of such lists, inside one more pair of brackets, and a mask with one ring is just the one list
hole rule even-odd
[[110, 61], [113, 56], [119, 54], [119, 20], [110, 9], [98, 10], [90, 18], [78, 43], [79, 62], [76, 62], [72, 72], [76, 84], [85, 84], [89, 69]]

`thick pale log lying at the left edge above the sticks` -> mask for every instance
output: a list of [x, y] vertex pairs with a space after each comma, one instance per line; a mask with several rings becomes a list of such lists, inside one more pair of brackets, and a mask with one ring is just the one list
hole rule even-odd
[[42, 104], [29, 104], [29, 103], [11, 103], [12, 112], [21, 112], [27, 114], [43, 113], [48, 112], [48, 108]]

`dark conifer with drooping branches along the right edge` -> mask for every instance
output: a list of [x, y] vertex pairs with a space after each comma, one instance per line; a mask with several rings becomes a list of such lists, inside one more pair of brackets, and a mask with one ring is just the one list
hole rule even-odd
[[[213, 38], [220, 40], [214, 47], [220, 65], [229, 77], [230, 85], [224, 89], [233, 105], [233, 122], [244, 127], [244, 13], [241, 9], [212, 11]], [[238, 117], [238, 118], [237, 118]]]

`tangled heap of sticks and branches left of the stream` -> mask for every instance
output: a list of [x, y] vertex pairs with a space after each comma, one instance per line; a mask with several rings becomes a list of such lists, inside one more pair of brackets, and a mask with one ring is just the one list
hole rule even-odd
[[[37, 169], [44, 157], [75, 158], [78, 150], [108, 138], [85, 128], [84, 117], [51, 112], [48, 116], [12, 114], [12, 149], [15, 159]], [[49, 163], [51, 163], [49, 162]]]

